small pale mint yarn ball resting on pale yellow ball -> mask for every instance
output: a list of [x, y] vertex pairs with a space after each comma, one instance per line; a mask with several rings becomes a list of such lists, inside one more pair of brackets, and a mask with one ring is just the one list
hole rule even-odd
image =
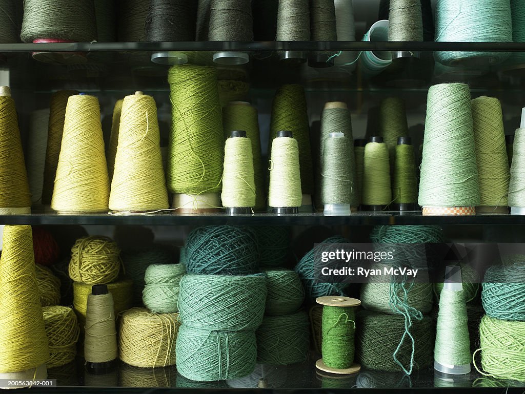
[[151, 264], [144, 274], [144, 306], [153, 313], [178, 312], [179, 284], [185, 273], [182, 264]]

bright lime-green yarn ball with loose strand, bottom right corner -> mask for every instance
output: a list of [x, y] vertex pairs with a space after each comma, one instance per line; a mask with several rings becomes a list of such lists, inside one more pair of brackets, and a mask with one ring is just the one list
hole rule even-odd
[[479, 325], [481, 368], [485, 376], [525, 381], [525, 322], [484, 316]]

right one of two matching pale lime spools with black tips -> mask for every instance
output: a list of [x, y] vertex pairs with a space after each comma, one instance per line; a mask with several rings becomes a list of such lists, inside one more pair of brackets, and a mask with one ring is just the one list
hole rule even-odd
[[302, 203], [299, 147], [291, 131], [277, 132], [271, 144], [268, 205], [277, 215], [298, 214]]

